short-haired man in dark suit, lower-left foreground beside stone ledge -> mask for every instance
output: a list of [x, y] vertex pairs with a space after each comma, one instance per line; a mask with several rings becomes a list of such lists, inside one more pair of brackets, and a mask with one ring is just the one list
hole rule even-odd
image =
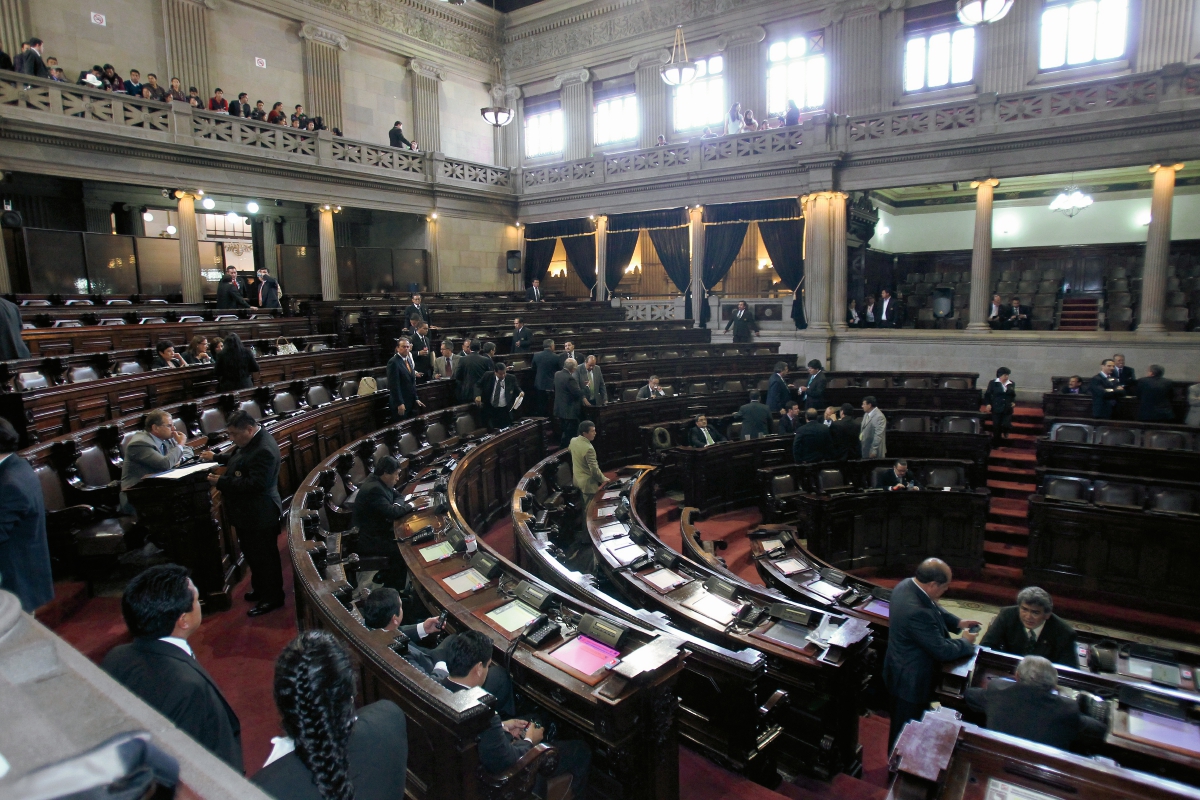
[[104, 672], [241, 774], [241, 723], [187, 643], [203, 618], [187, 570], [142, 572], [125, 587], [121, 615], [133, 642], [104, 656]]

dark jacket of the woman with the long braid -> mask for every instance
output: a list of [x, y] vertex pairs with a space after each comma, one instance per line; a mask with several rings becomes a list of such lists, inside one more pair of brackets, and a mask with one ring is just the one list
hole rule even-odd
[[[400, 706], [391, 700], [376, 700], [359, 709], [346, 756], [355, 800], [403, 798], [408, 720]], [[312, 772], [295, 751], [260, 769], [252, 781], [278, 800], [320, 800]]]

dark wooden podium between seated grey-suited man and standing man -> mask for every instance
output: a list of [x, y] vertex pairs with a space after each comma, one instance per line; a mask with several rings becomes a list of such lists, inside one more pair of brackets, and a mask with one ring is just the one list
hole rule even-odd
[[226, 610], [242, 576], [242, 559], [238, 537], [222, 524], [221, 493], [209, 486], [208, 475], [151, 475], [126, 494], [150, 539], [192, 572], [204, 609]]

